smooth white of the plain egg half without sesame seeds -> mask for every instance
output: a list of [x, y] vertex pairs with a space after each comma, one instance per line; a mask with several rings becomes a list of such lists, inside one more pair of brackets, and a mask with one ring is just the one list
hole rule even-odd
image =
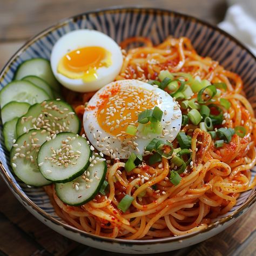
[[[97, 69], [98, 78], [91, 82], [84, 82], [82, 78], [68, 78], [57, 71], [59, 60], [68, 52], [86, 46], [100, 46], [111, 53], [112, 64], [109, 67]], [[53, 46], [51, 52], [51, 68], [56, 79], [65, 87], [77, 92], [90, 92], [100, 89], [112, 82], [122, 68], [123, 56], [116, 42], [102, 32], [80, 29], [66, 33]]]

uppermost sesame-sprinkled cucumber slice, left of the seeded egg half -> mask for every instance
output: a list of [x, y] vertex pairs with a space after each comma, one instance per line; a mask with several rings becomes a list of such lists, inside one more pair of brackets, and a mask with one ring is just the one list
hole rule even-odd
[[16, 126], [17, 136], [37, 128], [46, 129], [51, 133], [78, 133], [80, 120], [68, 103], [46, 100], [31, 106], [28, 112], [19, 118]]

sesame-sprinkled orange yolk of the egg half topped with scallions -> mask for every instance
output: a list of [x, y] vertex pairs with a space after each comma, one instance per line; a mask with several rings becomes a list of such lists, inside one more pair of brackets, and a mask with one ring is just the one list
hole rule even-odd
[[[106, 94], [98, 106], [97, 120], [105, 132], [113, 136], [124, 136], [128, 125], [138, 126], [138, 114], [152, 109], [157, 104], [153, 91], [134, 86], [114, 86]], [[122, 134], [122, 135], [121, 135]]]

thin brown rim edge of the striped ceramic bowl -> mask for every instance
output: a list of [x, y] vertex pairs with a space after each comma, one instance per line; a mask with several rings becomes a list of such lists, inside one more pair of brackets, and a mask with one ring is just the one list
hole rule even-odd
[[[65, 24], [68, 24], [69, 22], [75, 21], [76, 19], [83, 18], [84, 15], [97, 16], [99, 14], [106, 14], [106, 13], [112, 13], [112, 12], [129, 12], [129, 11], [140, 12], [140, 13], [144, 12], [145, 14], [156, 13], [157, 15], [159, 15], [159, 14], [174, 15], [175, 17], [178, 17], [178, 18], [185, 18], [187, 21], [190, 21], [190, 22], [200, 23], [200, 24], [202, 24], [208, 28], [211, 28], [213, 30], [218, 30], [221, 34], [228, 37], [231, 41], [235, 42], [235, 44], [239, 45], [242, 49], [246, 50], [246, 52], [249, 55], [251, 55], [251, 57], [256, 62], [256, 57], [253, 55], [253, 53], [250, 50], [248, 50], [248, 48], [244, 44], [239, 42], [238, 39], [234, 38], [233, 36], [231, 36], [230, 34], [225, 32], [224, 30], [218, 28], [217, 26], [214, 26], [214, 25], [212, 25], [208, 22], [205, 22], [199, 18], [193, 17], [191, 15], [183, 14], [181, 12], [165, 10], [165, 9], [160, 9], [160, 8], [144, 8], [142, 6], [127, 6], [127, 7], [126, 6], [111, 6], [110, 8], [96, 9], [93, 11], [83, 12], [82, 14], [74, 15], [69, 18], [64, 18], [64, 19], [60, 20], [59, 22], [55, 23], [54, 25], [50, 26], [49, 28], [39, 32], [36, 36], [29, 38], [28, 41], [26, 41], [26, 43], [23, 46], [21, 46], [21, 48], [19, 48], [14, 53], [14, 55], [12, 55], [12, 57], [9, 59], [9, 61], [4, 65], [4, 68], [2, 69], [2, 71], [0, 73], [0, 82], [2, 81], [3, 77], [5, 76], [5, 73], [9, 70], [10, 64], [12, 62], [14, 62], [14, 60], [19, 55], [21, 55], [21, 53], [24, 50], [29, 48], [29, 46], [32, 43], [37, 41], [37, 39], [45, 36], [50, 31], [53, 31]], [[19, 198], [21, 198], [22, 201], [25, 201], [25, 203], [28, 204], [29, 206], [31, 206], [33, 210], [35, 210], [36, 212], [41, 214], [43, 218], [51, 221], [53, 224], [62, 226], [67, 231], [71, 231], [73, 233], [78, 233], [80, 235], [84, 235], [85, 237], [90, 237], [92, 239], [96, 239], [99, 241], [118, 242], [120, 244], [127, 244], [127, 245], [128, 244], [130, 244], [130, 245], [131, 244], [149, 245], [149, 244], [159, 244], [159, 243], [163, 244], [163, 243], [177, 242], [180, 240], [190, 239], [197, 234], [202, 234], [202, 233], [211, 231], [213, 228], [220, 226], [220, 225], [224, 225], [228, 221], [231, 221], [232, 219], [234, 220], [234, 219], [239, 218], [243, 213], [245, 213], [247, 210], [249, 210], [249, 208], [251, 208], [252, 205], [256, 201], [256, 192], [254, 192], [254, 194], [251, 196], [251, 198], [247, 199], [247, 201], [244, 204], [242, 204], [237, 210], [235, 210], [232, 214], [230, 214], [224, 218], [221, 218], [218, 221], [215, 221], [214, 223], [208, 225], [204, 230], [185, 234], [185, 235], [179, 235], [177, 237], [167, 237], [167, 238], [149, 239], [149, 240], [125, 240], [125, 239], [120, 239], [120, 238], [105, 238], [105, 237], [100, 237], [95, 234], [87, 233], [85, 231], [78, 230], [76, 227], [72, 227], [68, 224], [63, 223], [60, 220], [55, 219], [54, 217], [52, 217], [52, 215], [46, 213], [40, 207], [38, 207], [35, 203], [33, 203], [33, 201], [31, 199], [29, 199], [23, 191], [19, 190], [19, 188], [16, 186], [16, 184], [10, 177], [8, 171], [5, 169], [5, 167], [4, 167], [3, 163], [1, 163], [1, 161], [0, 161], [0, 170], [1, 170], [1, 174], [4, 178], [5, 183], [10, 187], [12, 192], [17, 194], [17, 196], [19, 196]]]

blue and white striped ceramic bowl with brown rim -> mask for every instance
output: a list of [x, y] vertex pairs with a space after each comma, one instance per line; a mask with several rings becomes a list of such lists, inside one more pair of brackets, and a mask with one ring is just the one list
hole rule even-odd
[[[43, 57], [50, 59], [55, 42], [65, 33], [76, 29], [95, 29], [112, 37], [117, 43], [125, 38], [145, 36], [159, 44], [167, 36], [185, 36], [191, 39], [194, 48], [202, 56], [218, 60], [227, 70], [238, 73], [245, 83], [245, 92], [256, 110], [256, 58], [237, 40], [214, 26], [196, 18], [176, 12], [158, 9], [108, 9], [77, 15], [51, 26], [30, 39], [5, 65], [0, 75], [0, 85], [11, 82], [17, 66], [26, 59]], [[3, 128], [2, 124], [1, 130]], [[180, 237], [151, 240], [107, 239], [77, 230], [60, 220], [53, 210], [48, 196], [42, 188], [28, 188], [11, 172], [9, 153], [1, 136], [1, 176], [16, 198], [36, 218], [53, 230], [82, 244], [102, 250], [125, 253], [157, 253], [177, 250], [206, 240], [232, 225], [256, 201], [256, 190], [241, 194], [237, 205], [230, 212], [219, 217], [205, 230], [181, 235]], [[252, 172], [252, 178], [256, 172]]]

